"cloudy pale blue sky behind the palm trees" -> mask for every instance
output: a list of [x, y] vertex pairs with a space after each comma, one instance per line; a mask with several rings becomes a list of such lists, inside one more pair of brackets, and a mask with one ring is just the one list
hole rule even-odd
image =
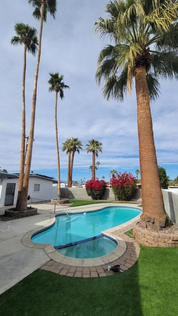
[[[139, 169], [137, 104], [132, 96], [123, 103], [102, 97], [95, 83], [97, 56], [102, 47], [94, 34], [94, 23], [104, 16], [105, 0], [58, 0], [56, 19], [47, 16], [44, 23], [40, 69], [37, 88], [34, 146], [31, 170], [57, 177], [57, 157], [54, 129], [55, 94], [48, 92], [49, 72], [64, 75], [70, 90], [58, 99], [58, 141], [60, 144], [61, 180], [67, 179], [68, 156], [61, 152], [67, 138], [79, 137], [83, 150], [74, 157], [73, 180], [90, 179], [92, 155], [85, 145], [91, 138], [103, 144], [99, 178], [109, 179], [109, 172], [131, 172]], [[39, 21], [32, 16], [27, 0], [6, 0], [1, 3], [1, 99], [0, 99], [0, 167], [9, 173], [20, 168], [21, 146], [21, 82], [23, 46], [11, 46], [15, 22], [29, 23], [39, 32]], [[27, 56], [26, 70], [26, 135], [29, 135], [31, 104], [36, 57]], [[158, 164], [167, 170], [170, 179], [178, 175], [178, 85], [175, 81], [161, 82], [160, 98], [151, 103], [153, 131]], [[97, 175], [97, 172], [96, 172]]]

